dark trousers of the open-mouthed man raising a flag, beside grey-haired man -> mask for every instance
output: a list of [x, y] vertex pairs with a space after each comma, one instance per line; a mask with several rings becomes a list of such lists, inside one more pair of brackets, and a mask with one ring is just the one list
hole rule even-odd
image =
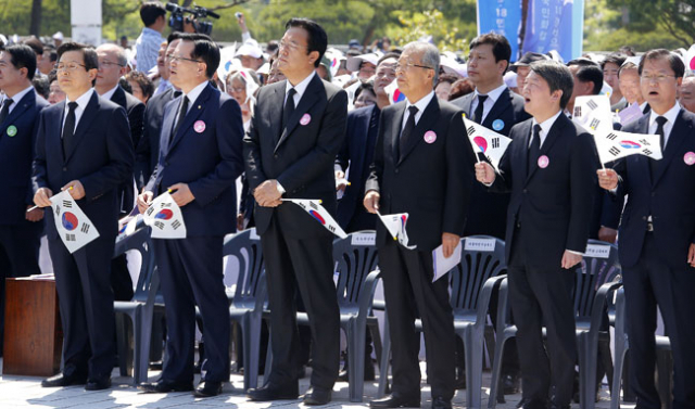
[[[521, 229], [515, 231], [510, 263], [509, 303], [517, 325], [523, 398], [540, 402], [548, 398], [570, 405], [577, 338], [572, 287], [574, 270], [539, 269], [529, 266], [520, 251]], [[542, 328], [547, 330], [547, 350]]]

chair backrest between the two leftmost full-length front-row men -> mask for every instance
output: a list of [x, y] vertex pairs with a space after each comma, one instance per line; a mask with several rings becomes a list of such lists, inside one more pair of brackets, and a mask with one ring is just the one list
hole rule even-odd
[[[130, 250], [137, 250], [142, 257], [140, 265], [140, 274], [138, 276], [138, 283], [135, 286], [132, 301], [146, 303], [152, 294], [150, 294], [152, 277], [155, 272], [155, 260], [152, 252], [151, 228], [146, 226], [142, 221], [139, 221], [136, 226], [136, 231], [129, 234], [123, 240], [116, 242], [114, 248], [114, 258], [125, 254]], [[154, 289], [156, 293], [159, 289]]]

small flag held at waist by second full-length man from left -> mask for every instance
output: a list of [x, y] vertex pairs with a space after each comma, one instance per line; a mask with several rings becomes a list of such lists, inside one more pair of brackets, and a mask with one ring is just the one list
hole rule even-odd
[[181, 208], [172, 194], [164, 192], [152, 201], [142, 217], [146, 225], [152, 227], [152, 239], [186, 239], [186, 222]]

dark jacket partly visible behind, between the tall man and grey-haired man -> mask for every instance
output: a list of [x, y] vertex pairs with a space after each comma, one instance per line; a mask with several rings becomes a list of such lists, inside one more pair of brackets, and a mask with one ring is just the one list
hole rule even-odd
[[350, 167], [350, 186], [338, 201], [338, 222], [343, 229], [348, 228], [355, 212], [363, 205], [365, 182], [369, 176], [369, 165], [374, 159], [376, 137], [379, 132], [379, 117], [380, 110], [377, 105], [365, 106], [348, 114], [345, 142], [336, 157], [336, 165], [343, 171]]

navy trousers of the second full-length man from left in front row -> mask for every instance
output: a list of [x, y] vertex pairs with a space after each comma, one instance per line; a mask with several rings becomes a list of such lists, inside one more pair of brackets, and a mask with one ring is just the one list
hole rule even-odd
[[223, 237], [154, 239], [166, 311], [162, 379], [193, 382], [195, 305], [203, 319], [204, 381], [229, 380], [229, 302], [223, 282]]

